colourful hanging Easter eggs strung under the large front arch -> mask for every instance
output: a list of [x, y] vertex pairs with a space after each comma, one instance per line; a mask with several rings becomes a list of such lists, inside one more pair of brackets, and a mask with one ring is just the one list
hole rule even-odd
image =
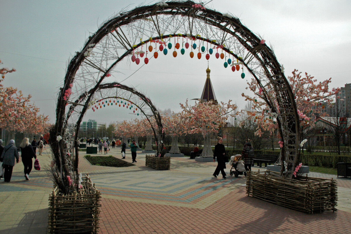
[[[215, 54], [215, 57], [217, 58], [217, 59], [219, 59], [219, 58], [221, 58], [221, 59], [224, 59], [225, 58], [225, 62], [224, 62], [224, 64], [223, 64], [223, 66], [225, 67], [225, 68], [227, 68], [228, 66], [231, 66], [232, 67], [232, 71], [234, 72], [234, 71], [239, 71], [240, 70], [240, 64], [241, 65], [243, 65], [243, 62], [241, 62], [241, 61], [239, 61], [239, 59], [241, 59], [242, 60], [242, 58], [241, 57], [239, 57], [239, 59], [236, 59], [233, 55], [233, 60], [230, 58], [230, 56], [231, 56], [231, 54], [228, 54], [228, 59], [227, 59], [227, 53], [223, 53], [223, 52], [226, 52], [225, 50], [223, 50], [223, 48], [224, 48], [224, 46], [223, 45], [218, 45], [218, 46], [214, 46], [213, 48], [208, 48], [208, 41], [206, 40], [206, 43], [207, 43], [207, 48], [205, 47], [205, 40], [202, 40], [202, 46], [200, 46], [201, 45], [201, 42], [199, 43], [199, 46], [195, 43], [195, 40], [198, 38], [198, 39], [200, 39], [200, 35], [196, 35], [196, 37], [193, 37], [193, 36], [190, 36], [189, 34], [187, 34], [187, 35], [184, 35], [184, 34], [170, 34], [169, 36], [168, 36], [169, 38], [168, 38], [168, 43], [166, 43], [162, 38], [161, 39], [157, 39], [157, 40], [154, 40], [154, 39], [152, 39], [152, 38], [150, 38], [149, 40], [147, 40], [147, 41], [143, 41], [141, 38], [140, 38], [140, 41], [141, 41], [141, 50], [140, 51], [134, 51], [134, 48], [135, 47], [137, 47], [137, 45], [134, 45], [133, 46], [133, 55], [132, 55], [132, 57], [131, 57], [131, 60], [132, 60], [132, 62], [134, 63], [136, 63], [137, 65], [140, 63], [140, 58], [139, 58], [139, 56], [141, 57], [141, 58], [143, 58], [144, 57], [144, 55], [145, 55], [145, 59], [144, 59], [144, 63], [145, 64], [148, 64], [148, 62], [149, 62], [149, 59], [148, 59], [148, 57], [147, 57], [147, 54], [148, 54], [148, 52], [149, 53], [151, 53], [154, 49], [155, 49], [155, 52], [153, 53], [153, 57], [155, 58], [155, 59], [157, 59], [158, 58], [158, 52], [156, 51], [157, 50], [157, 47], [159, 48], [159, 51], [161, 51], [161, 52], [163, 52], [163, 54], [164, 55], [167, 55], [168, 54], [168, 50], [171, 50], [172, 49], [172, 47], [173, 47], [173, 45], [172, 45], [172, 43], [171, 43], [171, 40], [172, 40], [172, 38], [174, 37], [174, 51], [173, 51], [173, 53], [172, 53], [172, 55], [173, 55], [173, 57], [175, 58], [175, 57], [177, 57], [177, 55], [178, 55], [178, 52], [177, 52], [177, 50], [179, 50], [179, 48], [180, 48], [180, 43], [179, 43], [179, 37], [181, 37], [182, 38], [182, 43], [181, 43], [181, 49], [180, 49], [180, 53], [182, 54], [182, 55], [184, 55], [185, 54], [185, 49], [188, 49], [188, 48], [190, 48], [191, 49], [191, 51], [190, 51], [190, 58], [193, 58], [194, 57], [194, 52], [193, 52], [193, 50], [196, 50], [196, 48], [198, 48], [198, 53], [197, 53], [197, 58], [198, 59], [201, 59], [201, 57], [202, 57], [202, 54], [203, 53], [206, 53], [206, 55], [205, 55], [205, 58], [208, 60], [208, 59], [210, 59], [210, 56], [213, 54], [213, 50], [214, 49], [216, 49], [217, 51], [216, 51], [216, 54]], [[186, 38], [186, 42], [184, 43], [184, 38]], [[176, 40], [177, 39], [177, 40]], [[188, 43], [188, 39], [190, 39], [190, 40], [194, 40], [194, 43], [192, 44], [192, 45], [190, 45], [189, 43]], [[200, 39], [201, 40], [201, 39]], [[212, 42], [215, 42], [215, 40], [213, 40]], [[210, 43], [210, 45], [212, 45], [212, 42]], [[148, 45], [150, 43], [150, 45]], [[152, 46], [152, 44], [155, 44], [154, 45], [154, 47]], [[143, 46], [144, 46], [144, 44], [146, 44], [145, 46], [147, 47], [147, 50], [146, 50], [146, 52], [144, 52], [143, 51]], [[158, 46], [158, 44], [159, 44], [159, 46]], [[147, 46], [148, 45], [148, 46]], [[184, 47], [185, 47], [185, 49], [184, 49]], [[168, 49], [167, 49], [168, 48]], [[221, 51], [221, 53], [219, 53], [218, 52], [218, 49], [220, 49]], [[230, 51], [231, 52], [231, 51]], [[234, 63], [234, 61], [236, 60], [236, 63]], [[242, 66], [241, 67], [241, 69], [242, 69], [242, 73], [241, 73], [241, 78], [245, 78], [245, 73], [244, 73], [244, 66]]]

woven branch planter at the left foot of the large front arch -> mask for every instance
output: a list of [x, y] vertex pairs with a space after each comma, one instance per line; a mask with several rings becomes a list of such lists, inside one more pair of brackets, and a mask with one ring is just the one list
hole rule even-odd
[[49, 196], [48, 233], [98, 233], [100, 191], [89, 177], [82, 193], [61, 195], [56, 186]]

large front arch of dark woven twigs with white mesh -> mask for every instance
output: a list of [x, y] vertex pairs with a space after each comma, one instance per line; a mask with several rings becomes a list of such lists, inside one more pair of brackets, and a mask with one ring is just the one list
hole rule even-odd
[[[118, 72], [115, 66], [120, 61], [151, 41], [169, 37], [210, 42], [243, 64], [263, 89], [261, 98], [276, 116], [284, 142], [282, 162], [288, 164], [285, 176], [292, 177], [300, 143], [299, 119], [294, 95], [273, 51], [238, 18], [206, 9], [192, 1], [161, 2], [120, 12], [91, 34], [84, 48], [68, 65], [64, 86], [58, 96], [57, 120], [51, 131], [53, 139], [64, 135], [70, 123], [77, 123], [82, 112], [86, 111], [80, 105], [86, 106], [92, 101], [102, 82], [109, 81], [111, 74]], [[269, 96], [267, 90], [274, 90], [275, 96]], [[75, 100], [74, 104], [66, 107], [67, 98]], [[53, 149], [57, 157], [64, 154], [59, 152], [58, 144], [54, 144]]]

